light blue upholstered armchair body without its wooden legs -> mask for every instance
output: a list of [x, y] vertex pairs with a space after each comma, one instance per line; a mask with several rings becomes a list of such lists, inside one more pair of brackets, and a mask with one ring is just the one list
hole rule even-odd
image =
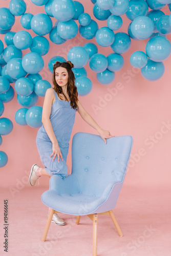
[[112, 210], [122, 187], [130, 158], [132, 136], [107, 139], [77, 133], [72, 141], [72, 174], [50, 178], [50, 189], [41, 200], [70, 215], [98, 214]]

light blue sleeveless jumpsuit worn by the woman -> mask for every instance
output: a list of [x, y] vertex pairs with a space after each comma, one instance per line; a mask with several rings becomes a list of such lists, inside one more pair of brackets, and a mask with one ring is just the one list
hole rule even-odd
[[58, 163], [57, 156], [54, 161], [52, 161], [53, 157], [50, 158], [50, 155], [52, 154], [52, 142], [46, 133], [43, 124], [37, 132], [36, 144], [41, 162], [45, 166], [46, 172], [50, 176], [58, 174], [61, 178], [64, 178], [67, 176], [66, 161], [77, 109], [74, 110], [71, 108], [70, 101], [68, 102], [58, 99], [55, 91], [54, 94], [55, 101], [52, 104], [50, 121], [60, 147], [63, 161], [60, 158]]

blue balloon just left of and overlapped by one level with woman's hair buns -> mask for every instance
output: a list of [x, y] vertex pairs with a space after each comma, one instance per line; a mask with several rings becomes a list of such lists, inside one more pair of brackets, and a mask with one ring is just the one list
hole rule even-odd
[[7, 72], [9, 76], [18, 79], [27, 75], [27, 72], [22, 67], [22, 62], [23, 60], [21, 58], [13, 58], [8, 61]]

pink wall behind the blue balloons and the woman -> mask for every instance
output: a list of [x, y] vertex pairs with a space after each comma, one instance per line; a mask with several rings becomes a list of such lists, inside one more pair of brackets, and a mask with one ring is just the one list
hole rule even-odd
[[[1, 1], [1, 7], [8, 7], [10, 0]], [[44, 7], [36, 7], [30, 0], [27, 3], [27, 11], [33, 14], [37, 12], [45, 13]], [[93, 4], [90, 0], [79, 0], [84, 6], [84, 12], [88, 12], [96, 20], [99, 27], [106, 26], [106, 21], [98, 21], [93, 16]], [[165, 6], [162, 9], [169, 15], [169, 9]], [[130, 20], [125, 15], [122, 16], [123, 25], [119, 31], [127, 32]], [[53, 24], [55, 19], [53, 18]], [[20, 17], [16, 17], [16, 22], [12, 31], [24, 30], [20, 25]], [[119, 32], [117, 31], [117, 32]], [[29, 31], [35, 36], [33, 31]], [[4, 36], [0, 35], [4, 41]], [[49, 39], [49, 36], [46, 35]], [[167, 38], [171, 40], [171, 35]], [[49, 40], [50, 41], [50, 40]], [[95, 42], [95, 39], [90, 40]], [[48, 70], [48, 61], [55, 55], [67, 57], [68, 51], [74, 46], [83, 46], [88, 40], [83, 39], [79, 34], [76, 38], [68, 40], [63, 45], [55, 45], [50, 41], [50, 50], [43, 56], [45, 67], [40, 72], [42, 79], [51, 82], [51, 73]], [[91, 71], [89, 64], [86, 66], [88, 77], [93, 82], [92, 92], [88, 96], [79, 97], [84, 108], [92, 115], [103, 129], [109, 130], [111, 134], [132, 135], [134, 145], [130, 160], [130, 165], [125, 179], [125, 184], [138, 187], [167, 187], [170, 186], [170, 145], [171, 145], [171, 115], [170, 115], [170, 57], [164, 61], [165, 73], [161, 79], [155, 82], [145, 80], [139, 69], [134, 69], [130, 64], [130, 56], [136, 50], [145, 51], [147, 40], [132, 40], [131, 49], [123, 54], [125, 64], [121, 71], [116, 72], [113, 83], [108, 86], [99, 84], [96, 73]], [[99, 53], [112, 53], [110, 47], [102, 48], [98, 46]], [[24, 50], [26, 54], [29, 50]], [[120, 84], [120, 87], [118, 86]], [[14, 87], [14, 84], [12, 84]], [[117, 89], [119, 88], [119, 89]], [[110, 89], [115, 94], [110, 94]], [[37, 105], [41, 105], [44, 98], [38, 100]], [[99, 109], [95, 111], [95, 105]], [[1, 150], [5, 151], [9, 157], [5, 167], [0, 168], [1, 186], [9, 187], [15, 193], [22, 187], [29, 186], [28, 174], [32, 164], [41, 165], [36, 148], [35, 138], [37, 129], [29, 126], [20, 126], [15, 122], [15, 112], [21, 108], [14, 99], [5, 103], [5, 111], [2, 117], [8, 117], [14, 124], [13, 131], [3, 136]], [[76, 115], [76, 121], [72, 136], [76, 132], [96, 133], [92, 127], [86, 124]], [[71, 146], [71, 143], [70, 143]], [[68, 156], [68, 164], [71, 167], [71, 147]], [[48, 186], [48, 179], [41, 178], [41, 185]]]

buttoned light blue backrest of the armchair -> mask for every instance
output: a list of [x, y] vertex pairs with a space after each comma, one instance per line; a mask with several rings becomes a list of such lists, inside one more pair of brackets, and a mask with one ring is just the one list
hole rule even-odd
[[132, 136], [107, 139], [98, 135], [76, 133], [72, 141], [72, 174], [80, 193], [101, 196], [110, 182], [123, 182], [130, 158]]

